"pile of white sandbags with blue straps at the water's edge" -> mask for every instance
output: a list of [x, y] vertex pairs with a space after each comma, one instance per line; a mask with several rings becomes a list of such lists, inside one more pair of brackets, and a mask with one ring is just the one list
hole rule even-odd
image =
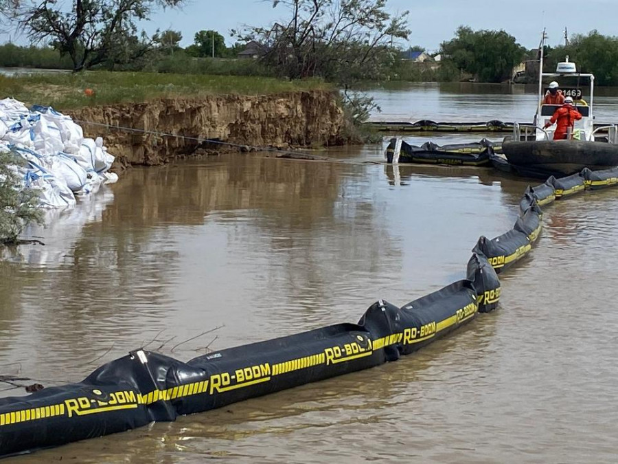
[[51, 107], [27, 109], [12, 98], [0, 100], [0, 150], [9, 150], [26, 161], [19, 167], [24, 186], [41, 192], [41, 206], [60, 208], [74, 204], [76, 195], [87, 195], [118, 176], [108, 173], [114, 157], [103, 139], [84, 138], [70, 116]]

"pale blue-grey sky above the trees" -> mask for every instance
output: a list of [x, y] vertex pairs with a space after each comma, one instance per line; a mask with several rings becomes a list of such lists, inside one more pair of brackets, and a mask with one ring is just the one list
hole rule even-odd
[[[142, 24], [147, 32], [180, 30], [181, 45], [193, 42], [198, 30], [218, 30], [229, 45], [233, 38], [229, 30], [242, 25], [268, 25], [286, 17], [282, 6], [272, 7], [272, 0], [189, 0], [181, 10], [165, 10], [152, 15]], [[527, 48], [537, 47], [542, 27], [547, 27], [549, 44], [564, 41], [563, 31], [569, 35], [587, 33], [593, 29], [602, 34], [618, 35], [618, 0], [388, 0], [391, 12], [409, 10], [409, 43], [430, 51], [442, 41], [453, 37], [459, 25], [474, 30], [503, 29]], [[0, 34], [0, 41], [8, 41]], [[18, 43], [25, 39], [17, 38]]]

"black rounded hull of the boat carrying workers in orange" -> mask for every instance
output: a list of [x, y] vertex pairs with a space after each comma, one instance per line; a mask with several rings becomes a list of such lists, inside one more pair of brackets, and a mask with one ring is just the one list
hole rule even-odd
[[505, 142], [502, 146], [512, 168], [520, 175], [545, 179], [564, 177], [583, 168], [609, 169], [618, 166], [618, 146], [580, 140]]

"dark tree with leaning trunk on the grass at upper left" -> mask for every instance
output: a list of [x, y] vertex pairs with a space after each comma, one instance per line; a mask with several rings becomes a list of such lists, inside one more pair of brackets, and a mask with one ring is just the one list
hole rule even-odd
[[[24, 0], [15, 13], [34, 43], [51, 41], [71, 57], [73, 70], [104, 63], [119, 47], [141, 56], [150, 47], [137, 36], [135, 21], [146, 20], [154, 8], [176, 7], [183, 0], [74, 0], [67, 11], [56, 0]], [[136, 45], [127, 47], [127, 45]]]

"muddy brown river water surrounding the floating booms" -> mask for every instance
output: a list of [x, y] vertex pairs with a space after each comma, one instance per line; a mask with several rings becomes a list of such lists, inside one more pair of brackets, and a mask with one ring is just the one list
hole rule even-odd
[[[466, 111], [485, 120], [475, 98]], [[423, 118], [451, 119], [412, 100]], [[356, 322], [378, 298], [403, 305], [463, 278], [479, 236], [512, 227], [528, 184], [364, 164], [379, 145], [328, 155], [343, 162], [252, 153], [133, 168], [31, 230], [45, 247], [0, 262], [0, 373], [50, 386], [144, 344], [187, 360]], [[499, 310], [420, 353], [7, 462], [615, 462], [618, 190], [554, 203], [544, 224], [501, 278]]]

